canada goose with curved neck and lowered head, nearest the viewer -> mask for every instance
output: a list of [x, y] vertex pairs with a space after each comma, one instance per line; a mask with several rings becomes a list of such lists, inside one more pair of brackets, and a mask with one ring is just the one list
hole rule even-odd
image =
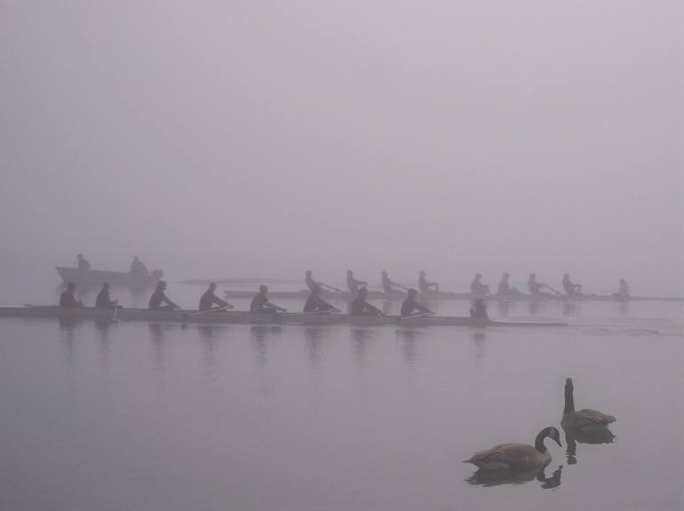
[[546, 436], [561, 445], [558, 429], [549, 427], [539, 431], [534, 447], [528, 444], [500, 444], [487, 451], [475, 452], [464, 463], [473, 463], [482, 470], [528, 470], [544, 467], [551, 461], [551, 453], [544, 445]]

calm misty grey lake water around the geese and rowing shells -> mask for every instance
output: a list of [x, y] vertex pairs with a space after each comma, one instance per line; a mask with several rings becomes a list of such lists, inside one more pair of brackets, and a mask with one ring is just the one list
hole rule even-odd
[[[0, 508], [682, 509], [681, 304], [490, 313], [570, 326], [0, 318]], [[560, 426], [568, 376], [614, 442], [562, 437], [538, 478], [473, 480], [473, 452]]]

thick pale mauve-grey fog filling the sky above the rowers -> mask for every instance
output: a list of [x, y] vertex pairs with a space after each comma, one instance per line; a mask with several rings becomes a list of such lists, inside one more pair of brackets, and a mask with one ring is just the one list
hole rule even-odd
[[2, 259], [681, 292], [682, 19], [664, 0], [0, 1]]

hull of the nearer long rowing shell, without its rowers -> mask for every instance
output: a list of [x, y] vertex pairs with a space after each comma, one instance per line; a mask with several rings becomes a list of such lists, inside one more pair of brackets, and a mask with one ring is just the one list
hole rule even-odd
[[147, 321], [148, 323], [177, 323], [198, 325], [357, 325], [357, 326], [567, 326], [560, 322], [496, 321], [454, 316], [418, 314], [400, 316], [352, 316], [329, 313], [257, 313], [241, 311], [149, 311], [147, 309], [96, 309], [93, 307], [62, 308], [42, 305], [0, 307], [4, 318], [58, 318], [64, 320]]

